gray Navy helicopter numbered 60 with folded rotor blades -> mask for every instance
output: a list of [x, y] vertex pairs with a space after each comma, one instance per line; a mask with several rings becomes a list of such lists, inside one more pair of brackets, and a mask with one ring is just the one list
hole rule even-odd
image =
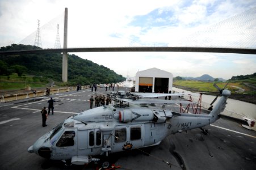
[[[224, 111], [229, 90], [220, 89], [220, 100], [209, 114], [171, 112], [157, 103], [191, 103], [184, 100], [141, 99], [141, 96], [179, 96], [184, 94], [132, 93], [115, 95], [116, 103], [84, 111], [66, 118], [28, 148], [43, 158], [66, 164], [100, 163], [114, 152], [159, 145], [167, 135], [202, 128], [215, 122]], [[219, 96], [218, 95], [218, 96]], [[217, 98], [217, 97], [216, 97]], [[214, 100], [215, 101], [215, 100]]]

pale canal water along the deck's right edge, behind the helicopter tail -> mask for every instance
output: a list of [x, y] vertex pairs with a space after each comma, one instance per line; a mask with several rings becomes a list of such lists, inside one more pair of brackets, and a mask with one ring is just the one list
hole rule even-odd
[[[200, 94], [198, 93], [193, 93], [190, 91], [186, 91], [186, 90], [182, 90], [181, 88], [175, 88], [173, 87], [173, 90], [175, 92], [185, 92], [188, 94], [192, 95], [192, 99], [193, 101], [198, 101]], [[215, 99], [216, 96], [212, 96], [212, 95], [202, 95], [202, 106], [204, 108], [209, 108], [210, 103], [213, 101], [213, 99]], [[213, 104], [213, 107], [215, 106], [215, 104], [219, 101], [219, 98], [215, 101], [215, 103]], [[234, 99], [228, 99], [226, 104], [226, 108], [225, 111], [223, 112], [223, 114], [225, 114], [226, 116], [232, 116], [235, 118], [242, 118], [242, 117], [247, 117], [253, 120], [256, 120], [256, 105], [255, 104], [251, 104], [251, 103], [246, 103], [244, 101], [240, 101], [240, 100], [234, 100]]]

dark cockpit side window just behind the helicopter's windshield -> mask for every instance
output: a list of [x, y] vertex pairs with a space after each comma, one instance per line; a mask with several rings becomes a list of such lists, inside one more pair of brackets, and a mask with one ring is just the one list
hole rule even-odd
[[66, 147], [66, 146], [73, 146], [74, 145], [74, 131], [65, 131], [62, 134], [61, 138], [58, 140], [56, 146], [58, 147]]

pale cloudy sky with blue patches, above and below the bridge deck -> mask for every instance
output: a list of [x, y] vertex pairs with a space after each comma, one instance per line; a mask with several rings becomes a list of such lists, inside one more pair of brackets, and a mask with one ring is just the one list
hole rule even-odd
[[[43, 48], [53, 48], [56, 22], [61, 22], [59, 33], [63, 44], [66, 7], [70, 48], [209, 46], [256, 49], [255, 0], [0, 0], [0, 46], [23, 42], [33, 45], [38, 19]], [[135, 76], [137, 71], [152, 67], [169, 71], [174, 77], [209, 74], [213, 78], [230, 79], [256, 72], [254, 54], [74, 54], [123, 76]]]

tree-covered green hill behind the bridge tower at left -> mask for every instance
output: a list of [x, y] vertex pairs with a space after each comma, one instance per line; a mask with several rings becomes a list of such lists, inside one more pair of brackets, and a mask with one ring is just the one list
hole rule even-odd
[[[31, 45], [16, 45], [1, 47], [0, 51], [41, 49]], [[40, 53], [40, 54], [19, 54], [5, 56], [0, 55], [0, 75], [9, 76], [12, 73], [22, 75], [33, 75], [41, 82], [53, 80], [61, 82], [62, 79], [62, 54], [61, 53]], [[74, 54], [68, 55], [68, 83], [65, 86], [76, 84], [88, 85], [93, 83], [116, 83], [122, 82], [125, 78], [116, 74], [115, 71], [98, 65], [90, 60], [82, 59]]]

